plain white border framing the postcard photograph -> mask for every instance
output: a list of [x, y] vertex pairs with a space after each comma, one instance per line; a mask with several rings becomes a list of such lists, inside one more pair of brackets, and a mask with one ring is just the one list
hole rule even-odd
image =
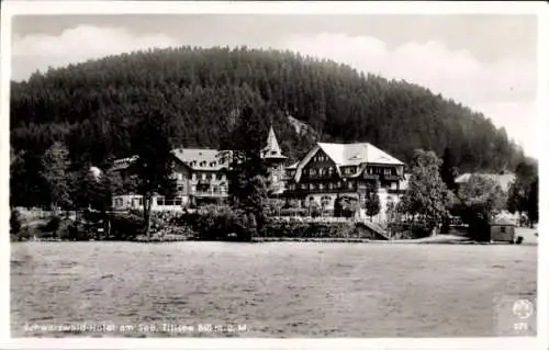
[[[175, 14], [175, 13], [269, 13], [269, 14], [536, 14], [538, 16], [538, 145], [549, 149], [544, 136], [549, 131], [549, 7], [542, 1], [515, 2], [161, 2], [161, 1], [3, 1], [1, 11], [1, 142], [0, 162], [4, 171], [0, 182], [0, 193], [9, 193], [9, 87], [11, 72], [11, 19], [16, 14]], [[540, 153], [541, 154], [541, 153]], [[545, 155], [542, 155], [545, 157]], [[549, 171], [547, 161], [539, 159], [539, 173], [546, 179]], [[540, 181], [540, 219], [538, 246], [538, 337], [534, 338], [363, 338], [363, 339], [268, 339], [268, 338], [10, 338], [10, 242], [9, 204], [3, 202], [0, 210], [2, 233], [0, 237], [0, 347], [3, 349], [111, 349], [111, 348], [189, 348], [189, 349], [274, 349], [274, 348], [367, 348], [367, 349], [549, 349], [547, 331], [549, 275], [546, 237], [549, 223], [549, 187]], [[8, 196], [5, 196], [8, 197]]]

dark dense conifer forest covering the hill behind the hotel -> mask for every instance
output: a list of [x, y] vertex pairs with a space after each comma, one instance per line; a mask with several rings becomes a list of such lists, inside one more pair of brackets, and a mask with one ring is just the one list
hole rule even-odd
[[[461, 172], [512, 170], [524, 158], [482, 114], [416, 84], [290, 52], [178, 47], [12, 82], [12, 192], [16, 182], [20, 196], [36, 193], [41, 158], [54, 142], [67, 146], [74, 167], [101, 167], [132, 155], [139, 118], [163, 115], [176, 121], [178, 146], [215, 148], [245, 105], [269, 111], [265, 124], [291, 160], [316, 139], [370, 142], [406, 162], [417, 148], [449, 151]], [[293, 118], [314, 133], [298, 134]]]

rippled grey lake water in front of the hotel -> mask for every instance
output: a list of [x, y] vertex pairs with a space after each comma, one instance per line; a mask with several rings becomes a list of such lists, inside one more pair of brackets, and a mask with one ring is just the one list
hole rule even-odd
[[12, 336], [495, 336], [494, 298], [535, 296], [536, 264], [512, 245], [15, 242]]

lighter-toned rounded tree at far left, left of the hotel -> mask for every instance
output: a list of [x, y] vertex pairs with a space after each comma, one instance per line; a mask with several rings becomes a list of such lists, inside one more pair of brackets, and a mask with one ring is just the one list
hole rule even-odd
[[59, 142], [54, 143], [42, 157], [41, 176], [44, 180], [52, 210], [67, 208], [70, 201], [70, 179], [68, 174], [69, 154], [67, 147]]

